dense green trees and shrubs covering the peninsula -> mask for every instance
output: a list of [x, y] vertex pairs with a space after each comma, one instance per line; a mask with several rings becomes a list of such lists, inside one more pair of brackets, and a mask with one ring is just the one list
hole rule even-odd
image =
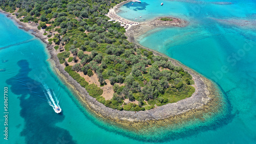
[[[39, 23], [38, 29], [48, 32], [49, 44], [65, 47], [57, 55], [65, 70], [89, 94], [107, 107], [118, 110], [149, 110], [156, 105], [174, 103], [195, 92], [192, 77], [165, 57], [140, 49], [126, 40], [120, 23], [108, 21], [104, 14], [122, 1], [0, 1], [0, 8], [13, 13], [23, 22]], [[161, 18], [161, 20], [172, 20]], [[47, 27], [50, 24], [51, 27]], [[49, 25], [48, 25], [49, 26]], [[54, 32], [54, 34], [50, 34]], [[91, 52], [90, 55], [84, 52]], [[73, 54], [73, 57], [70, 55]], [[70, 66], [68, 62], [74, 62]], [[109, 80], [114, 95], [102, 97], [103, 90], [90, 84], [77, 72], [89, 77], [97, 75], [100, 86]], [[120, 86], [121, 85], [121, 86]], [[124, 103], [124, 99], [138, 103]]]

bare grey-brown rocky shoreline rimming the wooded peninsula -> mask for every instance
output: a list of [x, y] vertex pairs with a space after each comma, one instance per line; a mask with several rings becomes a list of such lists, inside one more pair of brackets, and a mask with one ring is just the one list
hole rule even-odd
[[[59, 63], [57, 54], [53, 49], [53, 45], [48, 44], [47, 37], [44, 36], [40, 30], [38, 30], [36, 27], [33, 28], [29, 23], [20, 22], [15, 17], [15, 15], [11, 15], [10, 13], [4, 12], [1, 9], [0, 12], [7, 14], [8, 17], [14, 19], [18, 25], [22, 26], [19, 28], [26, 31], [33, 30], [34, 32], [32, 32], [32, 34], [47, 44], [47, 49], [51, 56], [50, 59], [52, 66], [55, 67], [54, 69], [59, 77], [64, 80], [74, 90], [74, 92], [77, 93], [77, 95], [79, 95], [79, 100], [82, 103], [86, 104], [86, 106], [91, 111], [102, 118], [110, 119], [111, 121], [121, 124], [126, 128], [133, 127], [138, 130], [148, 124], [155, 125], [158, 123], [162, 125], [162, 122], [165, 124], [167, 124], [166, 122], [168, 121], [174, 123], [175, 121], [181, 121], [181, 119], [184, 119], [185, 117], [185, 119], [189, 119], [189, 117], [195, 117], [197, 115], [200, 117], [200, 115], [202, 116], [202, 114], [207, 112], [216, 112], [221, 107], [221, 104], [218, 103], [221, 97], [216, 97], [218, 92], [215, 88], [215, 85], [198, 74], [196, 71], [181, 65], [179, 62], [173, 59], [169, 60], [171, 60], [175, 65], [182, 66], [194, 78], [198, 89], [196, 89], [196, 92], [193, 93], [191, 97], [181, 100], [177, 103], [169, 103], [152, 110], [139, 112], [118, 111], [109, 107], [105, 107], [103, 104], [96, 101], [95, 98], [91, 97], [86, 89], [81, 87], [79, 83], [77, 83], [71, 76], [69, 76], [69, 74], [64, 70], [64, 67], [62, 67], [62, 65]], [[137, 27], [140, 26], [138, 25]], [[152, 29], [153, 28], [154, 26]], [[132, 29], [130, 31], [132, 31]], [[158, 52], [154, 52], [154, 54], [162, 56], [162, 54]]]

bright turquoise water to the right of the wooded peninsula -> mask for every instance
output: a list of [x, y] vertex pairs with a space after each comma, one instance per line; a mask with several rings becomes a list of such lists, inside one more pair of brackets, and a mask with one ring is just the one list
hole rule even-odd
[[[160, 6], [161, 2], [165, 7]], [[256, 142], [256, 3], [226, 2], [232, 5], [216, 1], [145, 1], [141, 10], [140, 4], [131, 7], [128, 3], [118, 13], [131, 20], [140, 15], [145, 20], [176, 16], [189, 22], [185, 28], [158, 28], [137, 39], [141, 45], [177, 59], [215, 81], [230, 103], [234, 116], [230, 122], [196, 138], [189, 137], [188, 143]]]

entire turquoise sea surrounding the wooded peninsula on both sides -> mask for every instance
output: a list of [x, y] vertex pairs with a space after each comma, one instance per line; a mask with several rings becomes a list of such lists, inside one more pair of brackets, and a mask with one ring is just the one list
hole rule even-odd
[[[163, 6], [160, 6], [161, 3]], [[46, 45], [0, 14], [0, 143], [256, 143], [256, 2], [142, 1], [120, 16], [140, 21], [175, 16], [185, 28], [158, 28], [141, 45], [164, 53], [214, 81], [228, 108], [207, 122], [135, 134], [102, 121], [55, 74]], [[4, 87], [8, 87], [8, 140], [4, 139]], [[59, 101], [61, 114], [48, 103]], [[56, 101], [55, 101], [56, 102]]]

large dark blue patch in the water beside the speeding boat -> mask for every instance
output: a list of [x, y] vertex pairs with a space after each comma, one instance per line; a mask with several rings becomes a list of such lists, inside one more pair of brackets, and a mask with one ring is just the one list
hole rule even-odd
[[44, 87], [28, 77], [31, 71], [28, 61], [20, 60], [17, 64], [20, 67], [18, 74], [6, 83], [14, 94], [21, 95], [20, 116], [25, 124], [20, 135], [25, 136], [26, 143], [75, 143], [67, 130], [55, 126], [65, 116], [54, 113], [52, 107], [38, 97], [44, 95]]

